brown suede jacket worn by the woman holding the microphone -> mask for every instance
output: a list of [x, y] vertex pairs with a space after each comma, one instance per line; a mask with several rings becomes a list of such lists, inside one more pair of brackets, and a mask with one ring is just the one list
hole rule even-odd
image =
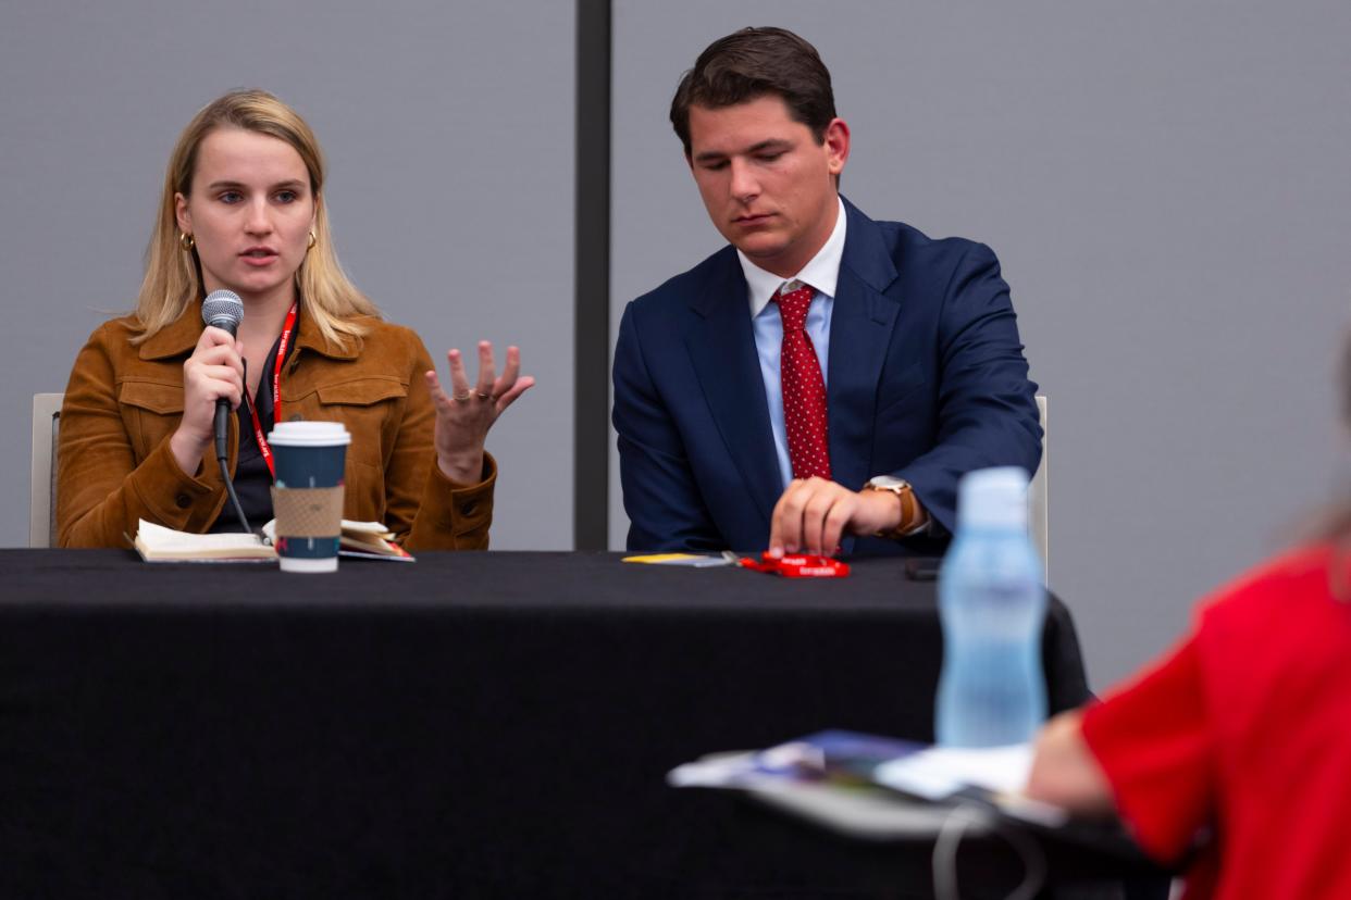
[[[427, 348], [407, 328], [365, 324], [366, 336], [343, 348], [300, 317], [281, 375], [285, 417], [336, 421], [351, 433], [343, 518], [384, 522], [411, 551], [486, 549], [496, 463], [485, 455], [480, 484], [442, 475]], [[200, 302], [143, 344], [131, 344], [136, 333], [131, 317], [105, 322], [70, 372], [57, 449], [61, 546], [130, 546], [139, 518], [201, 533], [227, 502], [213, 448], [196, 474], [169, 449], [182, 416], [182, 364], [201, 336]], [[231, 416], [231, 475], [238, 449]]]

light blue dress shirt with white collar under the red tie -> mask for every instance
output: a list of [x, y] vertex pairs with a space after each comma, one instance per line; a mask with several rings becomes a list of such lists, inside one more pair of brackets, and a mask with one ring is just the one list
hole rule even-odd
[[784, 487], [793, 480], [793, 463], [788, 455], [788, 429], [784, 425], [784, 386], [778, 372], [778, 355], [784, 345], [784, 321], [778, 304], [770, 302], [780, 287], [789, 281], [800, 281], [816, 289], [812, 305], [807, 308], [807, 336], [812, 339], [816, 359], [821, 363], [821, 378], [830, 367], [831, 313], [835, 310], [835, 290], [839, 282], [840, 259], [844, 255], [844, 202], [836, 200], [835, 229], [812, 260], [793, 278], [785, 279], [766, 271], [736, 251], [746, 275], [750, 301], [751, 328], [755, 332], [755, 352], [759, 356], [761, 378], [765, 379], [765, 399], [769, 402], [769, 424], [774, 430], [774, 452]]

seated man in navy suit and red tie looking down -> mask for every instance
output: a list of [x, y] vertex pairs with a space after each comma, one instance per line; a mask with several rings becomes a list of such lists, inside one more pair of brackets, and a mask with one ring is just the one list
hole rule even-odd
[[839, 196], [850, 131], [809, 43], [713, 42], [671, 124], [731, 246], [624, 310], [630, 549], [932, 552], [965, 472], [1036, 471], [1036, 386], [998, 260]]

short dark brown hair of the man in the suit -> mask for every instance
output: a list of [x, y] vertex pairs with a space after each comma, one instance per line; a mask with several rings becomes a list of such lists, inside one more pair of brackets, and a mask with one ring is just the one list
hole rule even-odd
[[812, 131], [816, 143], [835, 119], [831, 73], [816, 47], [786, 28], [742, 28], [698, 54], [671, 100], [671, 125], [690, 155], [689, 108], [719, 109], [775, 94], [788, 113]]

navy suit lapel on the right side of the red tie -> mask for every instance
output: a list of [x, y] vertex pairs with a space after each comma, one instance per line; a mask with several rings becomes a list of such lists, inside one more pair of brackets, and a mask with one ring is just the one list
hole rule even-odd
[[847, 200], [844, 210], [848, 229], [831, 314], [825, 402], [831, 475], [858, 490], [877, 474], [870, 471], [877, 387], [900, 305], [885, 294], [896, 281], [896, 264], [881, 229]]

